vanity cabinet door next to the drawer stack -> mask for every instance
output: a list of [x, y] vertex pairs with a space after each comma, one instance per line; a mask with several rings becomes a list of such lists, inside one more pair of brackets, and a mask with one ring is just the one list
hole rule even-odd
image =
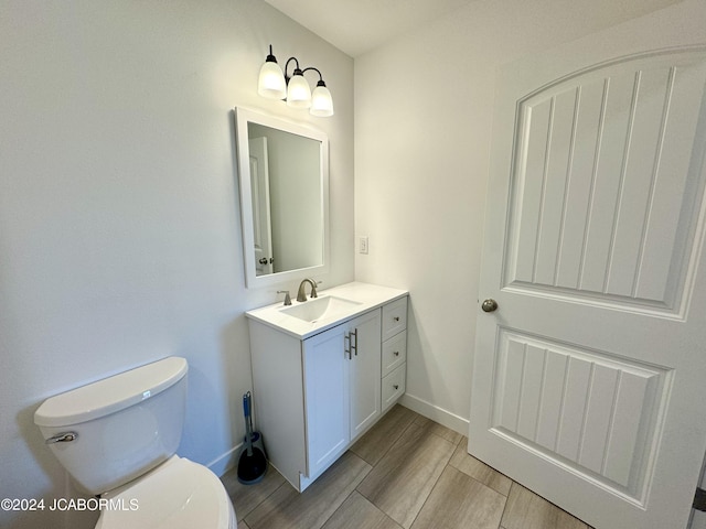
[[349, 332], [351, 440], [354, 440], [381, 413], [381, 311], [356, 317], [349, 324]]

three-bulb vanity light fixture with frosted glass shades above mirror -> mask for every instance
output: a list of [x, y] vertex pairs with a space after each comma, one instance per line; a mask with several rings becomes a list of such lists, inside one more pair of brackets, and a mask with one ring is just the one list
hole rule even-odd
[[[295, 62], [295, 71], [291, 76], [287, 75], [289, 63]], [[319, 74], [317, 87], [311, 91], [309, 83], [304, 78], [304, 73], [314, 71]], [[277, 58], [272, 55], [272, 45], [269, 46], [269, 55], [260, 68], [257, 93], [268, 99], [286, 99], [287, 105], [292, 108], [308, 108], [313, 116], [333, 116], [333, 99], [331, 93], [323, 82], [323, 76], [318, 68], [309, 66], [301, 69], [297, 57], [289, 57], [285, 64], [285, 72], [277, 64]]]

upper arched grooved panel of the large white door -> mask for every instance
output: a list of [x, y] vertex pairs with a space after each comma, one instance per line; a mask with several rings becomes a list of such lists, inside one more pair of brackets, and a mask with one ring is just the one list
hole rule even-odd
[[662, 63], [591, 71], [518, 102], [505, 285], [678, 305], [705, 71]]

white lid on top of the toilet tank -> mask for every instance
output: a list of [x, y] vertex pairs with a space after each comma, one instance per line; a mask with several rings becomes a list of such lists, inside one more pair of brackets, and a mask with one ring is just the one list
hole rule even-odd
[[154, 397], [181, 380], [189, 365], [170, 356], [46, 399], [34, 412], [40, 427], [67, 427], [105, 417]]

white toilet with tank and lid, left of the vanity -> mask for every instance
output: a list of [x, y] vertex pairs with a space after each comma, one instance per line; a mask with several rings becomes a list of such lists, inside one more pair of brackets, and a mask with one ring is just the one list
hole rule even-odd
[[237, 527], [221, 479], [175, 455], [188, 369], [184, 358], [164, 358], [52, 397], [34, 413], [61, 464], [100, 495], [97, 528]]

